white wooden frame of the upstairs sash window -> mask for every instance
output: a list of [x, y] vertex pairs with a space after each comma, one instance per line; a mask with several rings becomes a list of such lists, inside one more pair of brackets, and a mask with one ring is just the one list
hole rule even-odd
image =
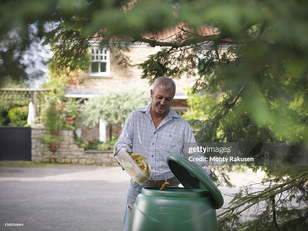
[[[93, 62], [98, 63], [98, 70], [100, 70], [101, 63], [106, 63], [106, 71], [104, 72], [92, 72], [91, 64]], [[90, 76], [110, 76], [110, 57], [109, 50], [105, 48], [100, 48], [99, 46], [92, 46], [90, 48], [90, 67], [89, 67]]]

